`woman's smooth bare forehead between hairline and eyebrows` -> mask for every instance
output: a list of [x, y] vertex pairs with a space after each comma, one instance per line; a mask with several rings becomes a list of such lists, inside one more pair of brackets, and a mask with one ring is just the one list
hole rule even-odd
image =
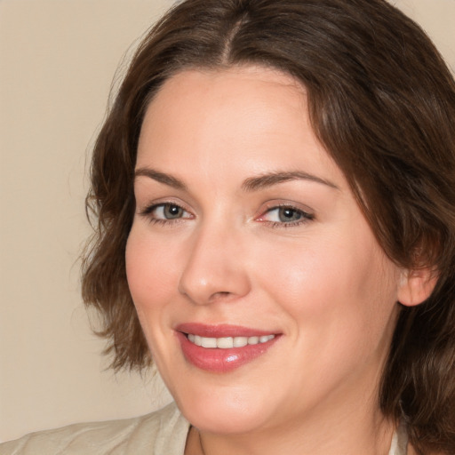
[[315, 137], [305, 87], [261, 67], [188, 70], [168, 79], [140, 132], [138, 167], [201, 172], [221, 167], [253, 173], [339, 173]]

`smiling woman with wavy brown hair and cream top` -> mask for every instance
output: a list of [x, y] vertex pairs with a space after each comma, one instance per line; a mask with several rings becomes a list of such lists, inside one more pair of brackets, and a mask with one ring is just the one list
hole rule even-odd
[[83, 280], [178, 408], [2, 450], [455, 453], [454, 180], [453, 78], [391, 5], [178, 4], [100, 132]]

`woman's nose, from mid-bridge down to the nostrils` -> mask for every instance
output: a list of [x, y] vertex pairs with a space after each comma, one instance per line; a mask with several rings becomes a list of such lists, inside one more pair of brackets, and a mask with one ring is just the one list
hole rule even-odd
[[243, 250], [234, 228], [206, 227], [195, 232], [180, 275], [180, 293], [197, 305], [245, 296], [250, 280]]

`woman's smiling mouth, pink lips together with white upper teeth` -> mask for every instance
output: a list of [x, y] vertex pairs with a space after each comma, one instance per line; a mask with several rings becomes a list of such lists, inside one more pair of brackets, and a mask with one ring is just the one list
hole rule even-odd
[[280, 333], [228, 324], [185, 323], [176, 327], [175, 333], [188, 363], [216, 373], [251, 363], [281, 337]]

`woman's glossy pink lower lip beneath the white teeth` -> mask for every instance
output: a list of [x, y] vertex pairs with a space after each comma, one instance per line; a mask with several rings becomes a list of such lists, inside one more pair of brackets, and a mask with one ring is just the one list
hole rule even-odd
[[275, 343], [276, 339], [279, 338], [275, 336], [274, 339], [270, 339], [265, 343], [258, 343], [257, 345], [220, 349], [197, 346], [181, 331], [177, 331], [176, 333], [183, 355], [185, 355], [189, 363], [192, 363], [201, 370], [217, 373], [233, 371], [246, 363], [252, 362], [260, 355], [266, 353]]

